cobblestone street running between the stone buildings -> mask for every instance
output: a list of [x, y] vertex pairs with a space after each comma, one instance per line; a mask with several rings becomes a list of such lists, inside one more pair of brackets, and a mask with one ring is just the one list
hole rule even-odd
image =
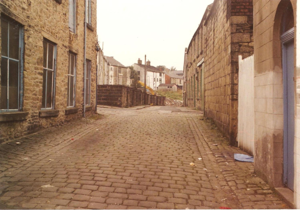
[[1, 144], [0, 209], [288, 208], [199, 111], [98, 113]]

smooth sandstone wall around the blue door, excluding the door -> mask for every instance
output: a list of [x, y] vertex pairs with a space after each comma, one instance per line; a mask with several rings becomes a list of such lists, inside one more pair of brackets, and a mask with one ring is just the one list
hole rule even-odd
[[[283, 186], [283, 78], [280, 40], [282, 13], [280, 12], [284, 6], [279, 5], [280, 2], [283, 0], [253, 0], [254, 166], [255, 171], [273, 187]], [[296, 0], [290, 2], [296, 17]], [[296, 27], [296, 21], [294, 26]], [[295, 129], [295, 135], [296, 133]], [[295, 149], [294, 155], [298, 156], [297, 153]], [[295, 171], [297, 163], [296, 161], [294, 163]], [[295, 174], [295, 177], [298, 175]], [[296, 188], [294, 190], [300, 191]]]

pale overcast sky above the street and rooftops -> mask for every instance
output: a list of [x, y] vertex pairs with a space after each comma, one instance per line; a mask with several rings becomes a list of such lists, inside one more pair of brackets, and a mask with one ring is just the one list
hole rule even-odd
[[213, 0], [97, 0], [97, 34], [104, 55], [125, 66], [144, 55], [152, 66], [183, 68], [206, 6]]

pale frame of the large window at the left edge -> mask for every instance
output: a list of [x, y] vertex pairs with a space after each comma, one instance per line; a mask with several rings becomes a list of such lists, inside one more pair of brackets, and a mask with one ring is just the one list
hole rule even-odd
[[[5, 17], [0, 17], [0, 20], [3, 20], [8, 23], [7, 29], [7, 56], [1, 54], [1, 59], [7, 59], [7, 106], [6, 109], [0, 109], [0, 112], [15, 112], [22, 109], [22, 100], [23, 100], [23, 53], [24, 53], [24, 27], [22, 25], [19, 26], [19, 59], [16, 60], [14, 58], [9, 57], [9, 26], [11, 21]], [[15, 25], [15, 24], [14, 24]], [[2, 31], [1, 31], [2, 33]], [[18, 94], [17, 94], [17, 109], [9, 109], [9, 60], [13, 60], [18, 62]], [[1, 78], [1, 75], [0, 75]], [[0, 80], [1, 85], [1, 80]], [[0, 94], [1, 97], [1, 94]]]

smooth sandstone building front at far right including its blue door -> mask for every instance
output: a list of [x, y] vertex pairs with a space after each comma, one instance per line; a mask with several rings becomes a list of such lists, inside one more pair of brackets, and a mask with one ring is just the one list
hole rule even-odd
[[300, 8], [297, 0], [253, 0], [254, 167], [300, 208]]

